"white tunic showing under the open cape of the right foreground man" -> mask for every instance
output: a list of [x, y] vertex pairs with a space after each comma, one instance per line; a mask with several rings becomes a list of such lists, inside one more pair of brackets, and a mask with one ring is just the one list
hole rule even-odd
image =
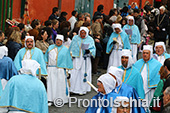
[[[148, 79], [147, 79], [147, 64], [144, 65], [144, 68], [141, 72], [142, 78], [143, 78], [143, 87], [145, 91], [145, 99], [148, 100], [148, 105], [150, 105], [150, 102], [153, 98], [153, 94], [155, 92], [155, 88], [148, 88]], [[145, 108], [146, 111], [149, 111], [149, 108]]]

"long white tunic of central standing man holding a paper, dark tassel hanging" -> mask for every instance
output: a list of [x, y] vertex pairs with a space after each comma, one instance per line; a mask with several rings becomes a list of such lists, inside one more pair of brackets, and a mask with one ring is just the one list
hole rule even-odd
[[[86, 58], [86, 66], [87, 66], [87, 81], [91, 83], [91, 59], [90, 57]], [[81, 51], [80, 58], [73, 59], [73, 70], [70, 71], [71, 78], [70, 78], [70, 92], [77, 93], [77, 94], [86, 94], [87, 92], [91, 91], [90, 85], [83, 81], [84, 73], [85, 73], [85, 60], [83, 58], [83, 54]]]

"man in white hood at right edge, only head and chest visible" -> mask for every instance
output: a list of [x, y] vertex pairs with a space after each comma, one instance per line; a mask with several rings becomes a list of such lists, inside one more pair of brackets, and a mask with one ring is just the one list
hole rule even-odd
[[166, 46], [164, 42], [156, 42], [154, 50], [156, 53], [153, 54], [153, 58], [158, 60], [162, 65], [167, 58], [170, 58], [170, 55], [166, 53]]

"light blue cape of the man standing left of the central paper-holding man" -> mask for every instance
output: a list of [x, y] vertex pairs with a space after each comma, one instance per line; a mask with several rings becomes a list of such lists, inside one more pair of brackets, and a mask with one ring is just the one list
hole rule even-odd
[[57, 56], [57, 65], [55, 67], [58, 68], [64, 68], [64, 69], [73, 69], [73, 62], [71, 59], [71, 55], [67, 47], [64, 45], [61, 45], [58, 47], [57, 45], [53, 44], [50, 45], [45, 52], [45, 62], [48, 63], [48, 54], [51, 50], [53, 50], [55, 47], [58, 48], [58, 56]]

